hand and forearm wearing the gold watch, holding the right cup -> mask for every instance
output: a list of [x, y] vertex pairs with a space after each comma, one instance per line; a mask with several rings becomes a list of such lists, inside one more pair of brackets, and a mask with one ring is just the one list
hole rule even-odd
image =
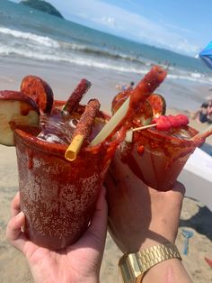
[[[109, 229], [124, 253], [144, 251], [176, 240], [185, 189], [176, 183], [172, 190], [159, 192], [147, 187], [117, 159], [107, 178]], [[190, 283], [181, 260], [164, 260], [146, 272], [142, 283]]]

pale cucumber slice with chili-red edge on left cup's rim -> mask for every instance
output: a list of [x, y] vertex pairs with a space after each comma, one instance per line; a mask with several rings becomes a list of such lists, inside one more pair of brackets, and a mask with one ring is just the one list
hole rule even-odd
[[13, 130], [17, 126], [39, 123], [40, 110], [31, 97], [13, 90], [0, 91], [0, 144], [14, 145]]

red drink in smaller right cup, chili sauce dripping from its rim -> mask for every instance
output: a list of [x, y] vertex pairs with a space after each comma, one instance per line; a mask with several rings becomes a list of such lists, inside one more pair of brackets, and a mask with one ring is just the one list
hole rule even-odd
[[134, 132], [132, 143], [119, 146], [120, 159], [146, 185], [169, 190], [190, 154], [203, 142], [190, 140], [197, 133], [188, 126], [168, 132], [153, 128]]

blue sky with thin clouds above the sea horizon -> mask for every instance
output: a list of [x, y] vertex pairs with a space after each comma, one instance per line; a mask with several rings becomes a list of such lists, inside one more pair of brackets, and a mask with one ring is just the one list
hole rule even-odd
[[190, 56], [199, 53], [212, 39], [212, 0], [48, 2], [72, 22]]

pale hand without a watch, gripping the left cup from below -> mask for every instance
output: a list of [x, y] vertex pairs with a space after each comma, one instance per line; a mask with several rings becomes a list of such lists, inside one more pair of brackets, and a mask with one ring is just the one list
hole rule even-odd
[[36, 283], [98, 282], [107, 233], [107, 211], [102, 187], [93, 221], [84, 235], [66, 249], [50, 251], [29, 241], [22, 233], [25, 217], [20, 213], [17, 194], [12, 202], [13, 217], [7, 225], [6, 236], [26, 256]]

